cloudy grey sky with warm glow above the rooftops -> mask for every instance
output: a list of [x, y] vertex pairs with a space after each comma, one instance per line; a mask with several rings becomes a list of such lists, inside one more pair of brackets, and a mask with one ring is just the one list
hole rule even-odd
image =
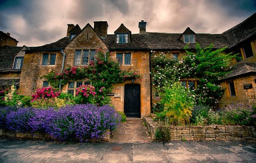
[[0, 30], [20, 41], [41, 46], [66, 36], [67, 24], [108, 21], [108, 34], [124, 24], [139, 33], [222, 33], [256, 12], [255, 0], [0, 0]]

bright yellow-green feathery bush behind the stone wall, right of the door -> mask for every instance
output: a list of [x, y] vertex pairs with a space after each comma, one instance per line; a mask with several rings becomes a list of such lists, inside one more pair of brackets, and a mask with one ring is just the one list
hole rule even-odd
[[161, 95], [161, 103], [164, 104], [164, 111], [157, 114], [157, 118], [167, 118], [168, 123], [184, 125], [190, 122], [194, 98], [179, 82], [164, 87], [165, 92]]

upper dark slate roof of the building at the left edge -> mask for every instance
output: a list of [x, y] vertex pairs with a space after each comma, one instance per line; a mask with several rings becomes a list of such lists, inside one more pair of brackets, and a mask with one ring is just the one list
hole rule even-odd
[[22, 47], [16, 46], [0, 47], [0, 72], [21, 72], [21, 70], [13, 70], [15, 55], [21, 49]]

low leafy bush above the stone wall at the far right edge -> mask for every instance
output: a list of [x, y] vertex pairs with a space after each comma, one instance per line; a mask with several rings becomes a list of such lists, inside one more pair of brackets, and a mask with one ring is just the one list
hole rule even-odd
[[221, 111], [222, 121], [226, 125], [246, 125], [256, 124], [256, 106], [245, 104], [230, 104]]

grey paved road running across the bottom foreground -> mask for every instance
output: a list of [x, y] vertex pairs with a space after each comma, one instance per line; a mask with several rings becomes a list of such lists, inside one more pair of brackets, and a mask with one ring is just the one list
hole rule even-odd
[[256, 162], [256, 143], [247, 141], [59, 143], [1, 138], [0, 162]]

